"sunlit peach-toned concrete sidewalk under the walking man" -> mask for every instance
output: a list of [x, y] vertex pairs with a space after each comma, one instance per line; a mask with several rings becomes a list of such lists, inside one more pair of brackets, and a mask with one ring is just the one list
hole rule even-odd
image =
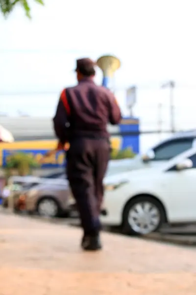
[[194, 248], [103, 233], [84, 253], [79, 229], [0, 214], [0, 295], [196, 294]]

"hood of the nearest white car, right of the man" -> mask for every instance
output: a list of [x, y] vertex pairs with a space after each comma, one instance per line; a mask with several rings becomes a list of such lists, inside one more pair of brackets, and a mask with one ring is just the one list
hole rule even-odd
[[144, 168], [139, 170], [133, 170], [130, 172], [124, 172], [113, 176], [105, 177], [104, 184], [116, 184], [119, 182], [127, 182], [137, 179], [145, 180], [152, 177], [158, 177], [160, 173], [162, 173], [162, 170], [158, 168]]

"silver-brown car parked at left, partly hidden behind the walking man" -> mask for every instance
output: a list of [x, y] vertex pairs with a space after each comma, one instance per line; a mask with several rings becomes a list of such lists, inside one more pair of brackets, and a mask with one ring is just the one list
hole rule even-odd
[[12, 177], [13, 183], [20, 183], [21, 189], [13, 194], [14, 203], [20, 200], [21, 207], [29, 213], [55, 217], [69, 212], [73, 203], [65, 173], [44, 177]]

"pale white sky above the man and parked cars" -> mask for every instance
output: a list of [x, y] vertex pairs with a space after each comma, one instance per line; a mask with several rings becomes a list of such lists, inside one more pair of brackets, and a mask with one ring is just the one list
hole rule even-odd
[[53, 116], [61, 89], [76, 83], [75, 59], [113, 54], [122, 62], [115, 93], [124, 116], [125, 89], [137, 85], [133, 111], [142, 128], [154, 128], [160, 117], [161, 128], [170, 127], [170, 92], [160, 86], [172, 79], [176, 128], [195, 127], [194, 0], [30, 2], [32, 20], [20, 8], [0, 16], [1, 113]]

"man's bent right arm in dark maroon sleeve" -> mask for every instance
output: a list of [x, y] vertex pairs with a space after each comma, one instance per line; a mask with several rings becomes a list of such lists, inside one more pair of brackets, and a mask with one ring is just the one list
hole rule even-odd
[[112, 92], [109, 95], [109, 122], [112, 125], [117, 125], [122, 119], [121, 110]]

